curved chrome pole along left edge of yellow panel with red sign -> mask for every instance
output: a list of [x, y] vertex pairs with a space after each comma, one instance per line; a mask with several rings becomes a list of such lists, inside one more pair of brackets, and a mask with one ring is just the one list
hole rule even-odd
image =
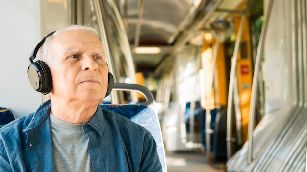
[[229, 81], [229, 91], [228, 91], [228, 101], [227, 101], [227, 129], [226, 129], [226, 142], [227, 142], [227, 159], [233, 155], [231, 142], [235, 141], [235, 138], [232, 138], [232, 103], [233, 103], [233, 86], [234, 86], [234, 77], [236, 73], [236, 64], [238, 58], [238, 52], [241, 43], [241, 37], [243, 32], [243, 26], [245, 22], [246, 15], [242, 15], [240, 27], [237, 33], [237, 37], [234, 45], [233, 57], [231, 60], [231, 69], [230, 69], [230, 81]]

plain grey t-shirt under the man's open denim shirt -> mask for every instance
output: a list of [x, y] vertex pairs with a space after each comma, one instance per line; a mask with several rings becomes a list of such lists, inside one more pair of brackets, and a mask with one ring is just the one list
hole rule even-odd
[[83, 124], [62, 121], [50, 114], [53, 155], [57, 172], [92, 172]]

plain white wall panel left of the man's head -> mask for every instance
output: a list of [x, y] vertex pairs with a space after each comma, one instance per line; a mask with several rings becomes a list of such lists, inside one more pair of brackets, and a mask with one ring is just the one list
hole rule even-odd
[[40, 2], [0, 0], [0, 11], [0, 106], [20, 117], [42, 102], [27, 77], [28, 59], [40, 41]]

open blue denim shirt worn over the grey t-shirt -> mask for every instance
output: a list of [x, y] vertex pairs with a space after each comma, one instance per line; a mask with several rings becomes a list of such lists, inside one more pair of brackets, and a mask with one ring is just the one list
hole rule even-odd
[[[0, 172], [54, 172], [51, 101], [0, 129]], [[161, 172], [156, 143], [143, 127], [97, 108], [83, 125], [94, 172]]]

